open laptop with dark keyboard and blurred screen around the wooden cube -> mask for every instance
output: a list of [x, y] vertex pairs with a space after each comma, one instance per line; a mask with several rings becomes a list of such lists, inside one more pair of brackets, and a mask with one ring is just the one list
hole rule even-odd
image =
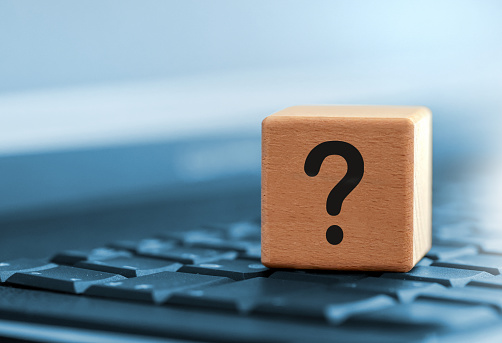
[[[37, 131], [3, 138], [2, 341], [499, 341], [500, 103], [454, 80], [366, 90], [312, 83], [305, 94], [284, 79], [280, 89], [264, 82], [276, 76], [0, 99], [16, 118], [44, 113]], [[229, 89], [239, 77], [251, 86]], [[410, 272], [261, 264], [260, 122], [298, 101], [432, 109], [433, 247]], [[68, 111], [78, 125], [65, 124]]]

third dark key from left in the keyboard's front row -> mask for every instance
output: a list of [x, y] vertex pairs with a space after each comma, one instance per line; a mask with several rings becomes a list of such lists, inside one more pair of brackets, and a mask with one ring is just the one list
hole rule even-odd
[[318, 288], [318, 285], [307, 282], [254, 278], [177, 293], [168, 302], [247, 313], [265, 299], [309, 289], [315, 291]]

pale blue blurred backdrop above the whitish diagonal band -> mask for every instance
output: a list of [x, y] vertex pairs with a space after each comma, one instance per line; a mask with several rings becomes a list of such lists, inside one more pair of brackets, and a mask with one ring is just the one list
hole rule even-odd
[[[502, 58], [499, 1], [2, 1], [0, 91], [381, 59]], [[357, 70], [353, 70], [357, 76]]]

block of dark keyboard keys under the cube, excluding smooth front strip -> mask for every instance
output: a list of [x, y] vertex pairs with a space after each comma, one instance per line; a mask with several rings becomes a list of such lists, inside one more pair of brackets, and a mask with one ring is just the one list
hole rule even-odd
[[[327, 327], [406, 326], [439, 335], [501, 324], [502, 251], [490, 238], [435, 231], [408, 273], [272, 270], [260, 263], [260, 226], [244, 221], [118, 240], [48, 259], [0, 263], [0, 281], [75, 297], [225, 311]], [[474, 237], [474, 235], [473, 235]], [[450, 239], [451, 238], [451, 239]], [[404, 336], [406, 337], [406, 336]]]

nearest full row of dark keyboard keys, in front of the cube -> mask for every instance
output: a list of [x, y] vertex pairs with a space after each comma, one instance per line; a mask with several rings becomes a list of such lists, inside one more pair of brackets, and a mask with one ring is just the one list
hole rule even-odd
[[[118, 262], [120, 258], [116, 260]], [[114, 260], [105, 260], [113, 265], [111, 261]], [[236, 261], [239, 263], [230, 263]], [[148, 262], [152, 261], [148, 259]], [[269, 272], [261, 265], [250, 267], [252, 262], [220, 261], [221, 270], [225, 270], [236, 279], [245, 277], [244, 274], [251, 273], [254, 267], [260, 273]], [[25, 263], [21, 267], [29, 266], [33, 267], [33, 263]], [[38, 265], [38, 268], [44, 268], [44, 265]], [[359, 279], [338, 283], [326, 282], [330, 278], [330, 273], [325, 273], [323, 276], [318, 275], [323, 273], [298, 273], [307, 274], [309, 280], [316, 280], [308, 282], [305, 279], [290, 280], [288, 279], [290, 274], [297, 273], [282, 271], [274, 273], [270, 278], [254, 277], [244, 281], [234, 281], [227, 277], [199, 274], [218, 270], [214, 266], [194, 265], [191, 268], [194, 268], [188, 269], [191, 273], [163, 271], [127, 279], [122, 275], [107, 272], [49, 264], [47, 269], [38, 271], [17, 270], [7, 282], [13, 285], [74, 294], [85, 293], [106, 298], [206, 307], [254, 315], [311, 318], [333, 325], [340, 325], [346, 321], [370, 321], [456, 327], [493, 320], [496, 315], [492, 308], [498, 310], [502, 308], [502, 301], [497, 300], [502, 299], [500, 296], [502, 291], [494, 289], [483, 292], [480, 288], [473, 287], [475, 282], [500, 279], [500, 276], [473, 280], [464, 288], [445, 288], [432, 283], [431, 280], [416, 282], [368, 275], [361, 278], [362, 275], [356, 273]], [[247, 268], [244, 273], [242, 268]], [[338, 281], [348, 281], [355, 276], [350, 273], [331, 274], [335, 275]], [[285, 277], [286, 279], [283, 279]], [[437, 278], [437, 275], [434, 277]], [[319, 280], [324, 282], [318, 282]], [[413, 299], [416, 300], [411, 302]], [[397, 301], [404, 304], [399, 305]], [[462, 314], [468, 320], [449, 318], [453, 313], [456, 317]], [[432, 316], [432, 319], [428, 316]], [[442, 319], [434, 321], [436, 317]]]

